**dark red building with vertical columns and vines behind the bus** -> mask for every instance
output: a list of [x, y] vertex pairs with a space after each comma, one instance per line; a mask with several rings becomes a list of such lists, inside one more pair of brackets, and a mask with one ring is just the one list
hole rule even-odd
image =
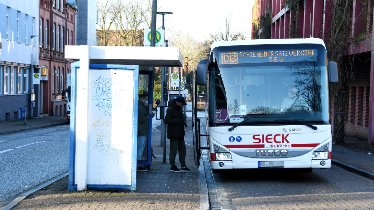
[[[328, 37], [334, 0], [299, 0], [294, 9], [285, 0], [255, 0], [252, 10], [252, 39]], [[347, 58], [353, 58], [354, 77], [346, 84], [345, 135], [368, 140], [374, 145], [374, 0], [353, 0], [346, 26], [350, 30]], [[331, 115], [335, 113], [331, 106]]]

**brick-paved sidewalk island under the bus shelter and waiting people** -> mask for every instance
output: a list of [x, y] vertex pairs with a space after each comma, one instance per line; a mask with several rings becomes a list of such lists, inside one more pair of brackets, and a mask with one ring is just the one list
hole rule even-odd
[[[13, 209], [200, 209], [199, 169], [194, 166], [191, 126], [186, 128], [186, 163], [191, 172], [173, 173], [169, 165], [169, 140], [166, 163], [162, 163], [160, 132], [152, 130], [153, 160], [147, 172], [137, 172], [136, 192], [88, 190], [67, 191], [68, 177], [34, 192]], [[176, 160], [179, 165], [178, 156]]]

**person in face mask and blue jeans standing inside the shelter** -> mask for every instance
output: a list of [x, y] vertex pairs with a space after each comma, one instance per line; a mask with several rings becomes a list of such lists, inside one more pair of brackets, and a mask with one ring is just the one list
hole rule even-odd
[[[154, 113], [152, 112], [152, 117]], [[138, 147], [137, 147], [137, 160], [142, 159], [145, 139], [148, 135], [148, 92], [145, 90], [139, 90], [139, 101], [138, 101]], [[141, 165], [137, 165], [138, 172], [146, 172], [147, 169]]]

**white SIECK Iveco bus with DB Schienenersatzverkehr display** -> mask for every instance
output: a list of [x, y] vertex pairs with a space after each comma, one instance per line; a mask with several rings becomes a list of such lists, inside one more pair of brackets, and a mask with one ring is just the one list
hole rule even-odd
[[[337, 77], [318, 38], [214, 42], [194, 72], [196, 164], [208, 149], [212, 170], [331, 167], [328, 85]], [[197, 85], [206, 86], [205, 135]]]

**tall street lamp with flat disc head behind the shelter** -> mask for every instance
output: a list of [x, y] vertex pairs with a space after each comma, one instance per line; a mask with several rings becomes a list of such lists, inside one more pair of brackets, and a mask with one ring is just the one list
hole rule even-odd
[[[162, 15], [162, 30], [165, 30], [165, 15], [171, 15], [172, 12], [157, 12], [157, 15]], [[161, 105], [167, 105], [167, 98], [165, 97], [165, 86], [166, 86], [166, 67], [162, 67], [161, 70]], [[160, 145], [162, 146], [162, 163], [166, 163], [166, 125], [161, 120], [161, 138]]]

